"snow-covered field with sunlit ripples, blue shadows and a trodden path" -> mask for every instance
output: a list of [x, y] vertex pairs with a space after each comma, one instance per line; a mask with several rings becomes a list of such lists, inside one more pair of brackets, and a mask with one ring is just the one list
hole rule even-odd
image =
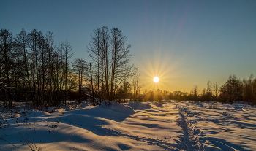
[[83, 103], [49, 112], [2, 112], [0, 150], [256, 150], [256, 108], [245, 104]]

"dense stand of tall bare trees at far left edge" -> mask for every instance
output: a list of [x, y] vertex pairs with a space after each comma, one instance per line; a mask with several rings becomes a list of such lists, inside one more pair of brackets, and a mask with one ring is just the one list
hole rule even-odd
[[7, 29], [0, 32], [1, 101], [12, 107], [12, 101], [31, 101], [34, 106], [58, 105], [67, 101], [75, 86], [70, 69], [72, 47], [61, 42], [55, 47], [53, 32], [43, 34], [24, 28], [16, 36]]

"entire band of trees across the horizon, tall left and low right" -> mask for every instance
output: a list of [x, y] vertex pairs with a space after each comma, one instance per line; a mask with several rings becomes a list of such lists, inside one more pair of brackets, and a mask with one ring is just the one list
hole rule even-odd
[[[87, 50], [91, 62], [71, 61], [69, 42], [56, 47], [53, 32], [43, 34], [23, 28], [16, 36], [7, 29], [0, 32], [0, 101], [12, 107], [14, 101], [29, 102], [42, 109], [59, 107], [68, 101], [256, 101], [256, 79], [239, 80], [230, 76], [223, 85], [207, 82], [207, 88], [191, 92], [143, 90], [137, 68], [130, 64], [130, 45], [118, 28], [103, 26], [91, 34]], [[132, 82], [130, 82], [132, 81]]]

